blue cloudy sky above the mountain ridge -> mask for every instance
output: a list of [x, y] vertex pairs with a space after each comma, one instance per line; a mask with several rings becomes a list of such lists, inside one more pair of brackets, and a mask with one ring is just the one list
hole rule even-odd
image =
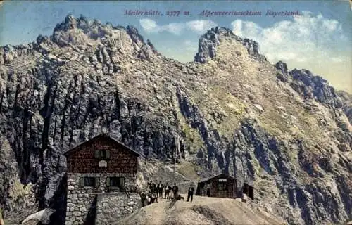
[[[125, 11], [159, 15], [125, 15]], [[180, 15], [168, 15], [180, 11]], [[209, 15], [203, 11], [253, 11], [257, 15]], [[270, 11], [270, 13], [268, 13]], [[275, 15], [277, 12], [298, 15]], [[184, 12], [189, 12], [189, 15]], [[258, 15], [260, 13], [260, 15]], [[352, 93], [352, 8], [348, 1], [4, 1], [0, 4], [0, 46], [51, 35], [65, 16], [84, 15], [102, 23], [133, 25], [164, 56], [194, 59], [201, 34], [230, 28], [259, 43], [270, 63], [308, 69], [332, 86]]]

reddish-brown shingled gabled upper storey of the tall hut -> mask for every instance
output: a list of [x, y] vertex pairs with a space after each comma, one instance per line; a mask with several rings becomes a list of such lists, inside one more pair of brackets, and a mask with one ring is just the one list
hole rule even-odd
[[139, 153], [106, 134], [68, 150], [68, 173], [137, 173]]

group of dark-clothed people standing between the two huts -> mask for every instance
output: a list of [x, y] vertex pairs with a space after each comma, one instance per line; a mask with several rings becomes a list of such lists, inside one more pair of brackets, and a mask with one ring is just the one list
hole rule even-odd
[[[148, 188], [149, 188], [149, 191], [147, 193], [146, 191], [142, 191], [141, 193], [143, 206], [145, 205], [145, 201], [147, 205], [150, 205], [151, 203], [158, 203], [158, 198], [175, 199], [177, 197], [180, 197], [178, 193], [179, 188], [176, 185], [176, 183], [174, 183], [173, 186], [170, 186], [168, 183], [164, 185], [161, 181], [156, 181], [156, 183], [154, 183], [153, 181], [149, 181]], [[165, 191], [165, 195], [163, 195], [163, 191]], [[170, 196], [171, 191], [172, 191], [172, 196]], [[189, 200], [191, 201], [193, 200], [193, 194], [194, 194], [194, 187], [191, 184], [188, 188], [187, 202], [189, 202]]]

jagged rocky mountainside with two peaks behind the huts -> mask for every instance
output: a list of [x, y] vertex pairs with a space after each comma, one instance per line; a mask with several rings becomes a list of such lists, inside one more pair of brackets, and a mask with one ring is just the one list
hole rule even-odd
[[[103, 127], [147, 158], [191, 165], [184, 174], [254, 179], [253, 204], [289, 224], [341, 223], [352, 219], [348, 104], [222, 27], [180, 63], [134, 27], [68, 16], [51, 37], [0, 49], [0, 207], [15, 213], [34, 193], [62, 224], [62, 153]], [[32, 191], [11, 199], [15, 181]]]

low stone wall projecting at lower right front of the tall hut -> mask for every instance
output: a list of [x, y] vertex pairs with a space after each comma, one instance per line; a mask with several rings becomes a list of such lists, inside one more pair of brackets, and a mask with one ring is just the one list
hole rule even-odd
[[116, 224], [142, 206], [138, 193], [101, 193], [96, 201], [96, 225]]

